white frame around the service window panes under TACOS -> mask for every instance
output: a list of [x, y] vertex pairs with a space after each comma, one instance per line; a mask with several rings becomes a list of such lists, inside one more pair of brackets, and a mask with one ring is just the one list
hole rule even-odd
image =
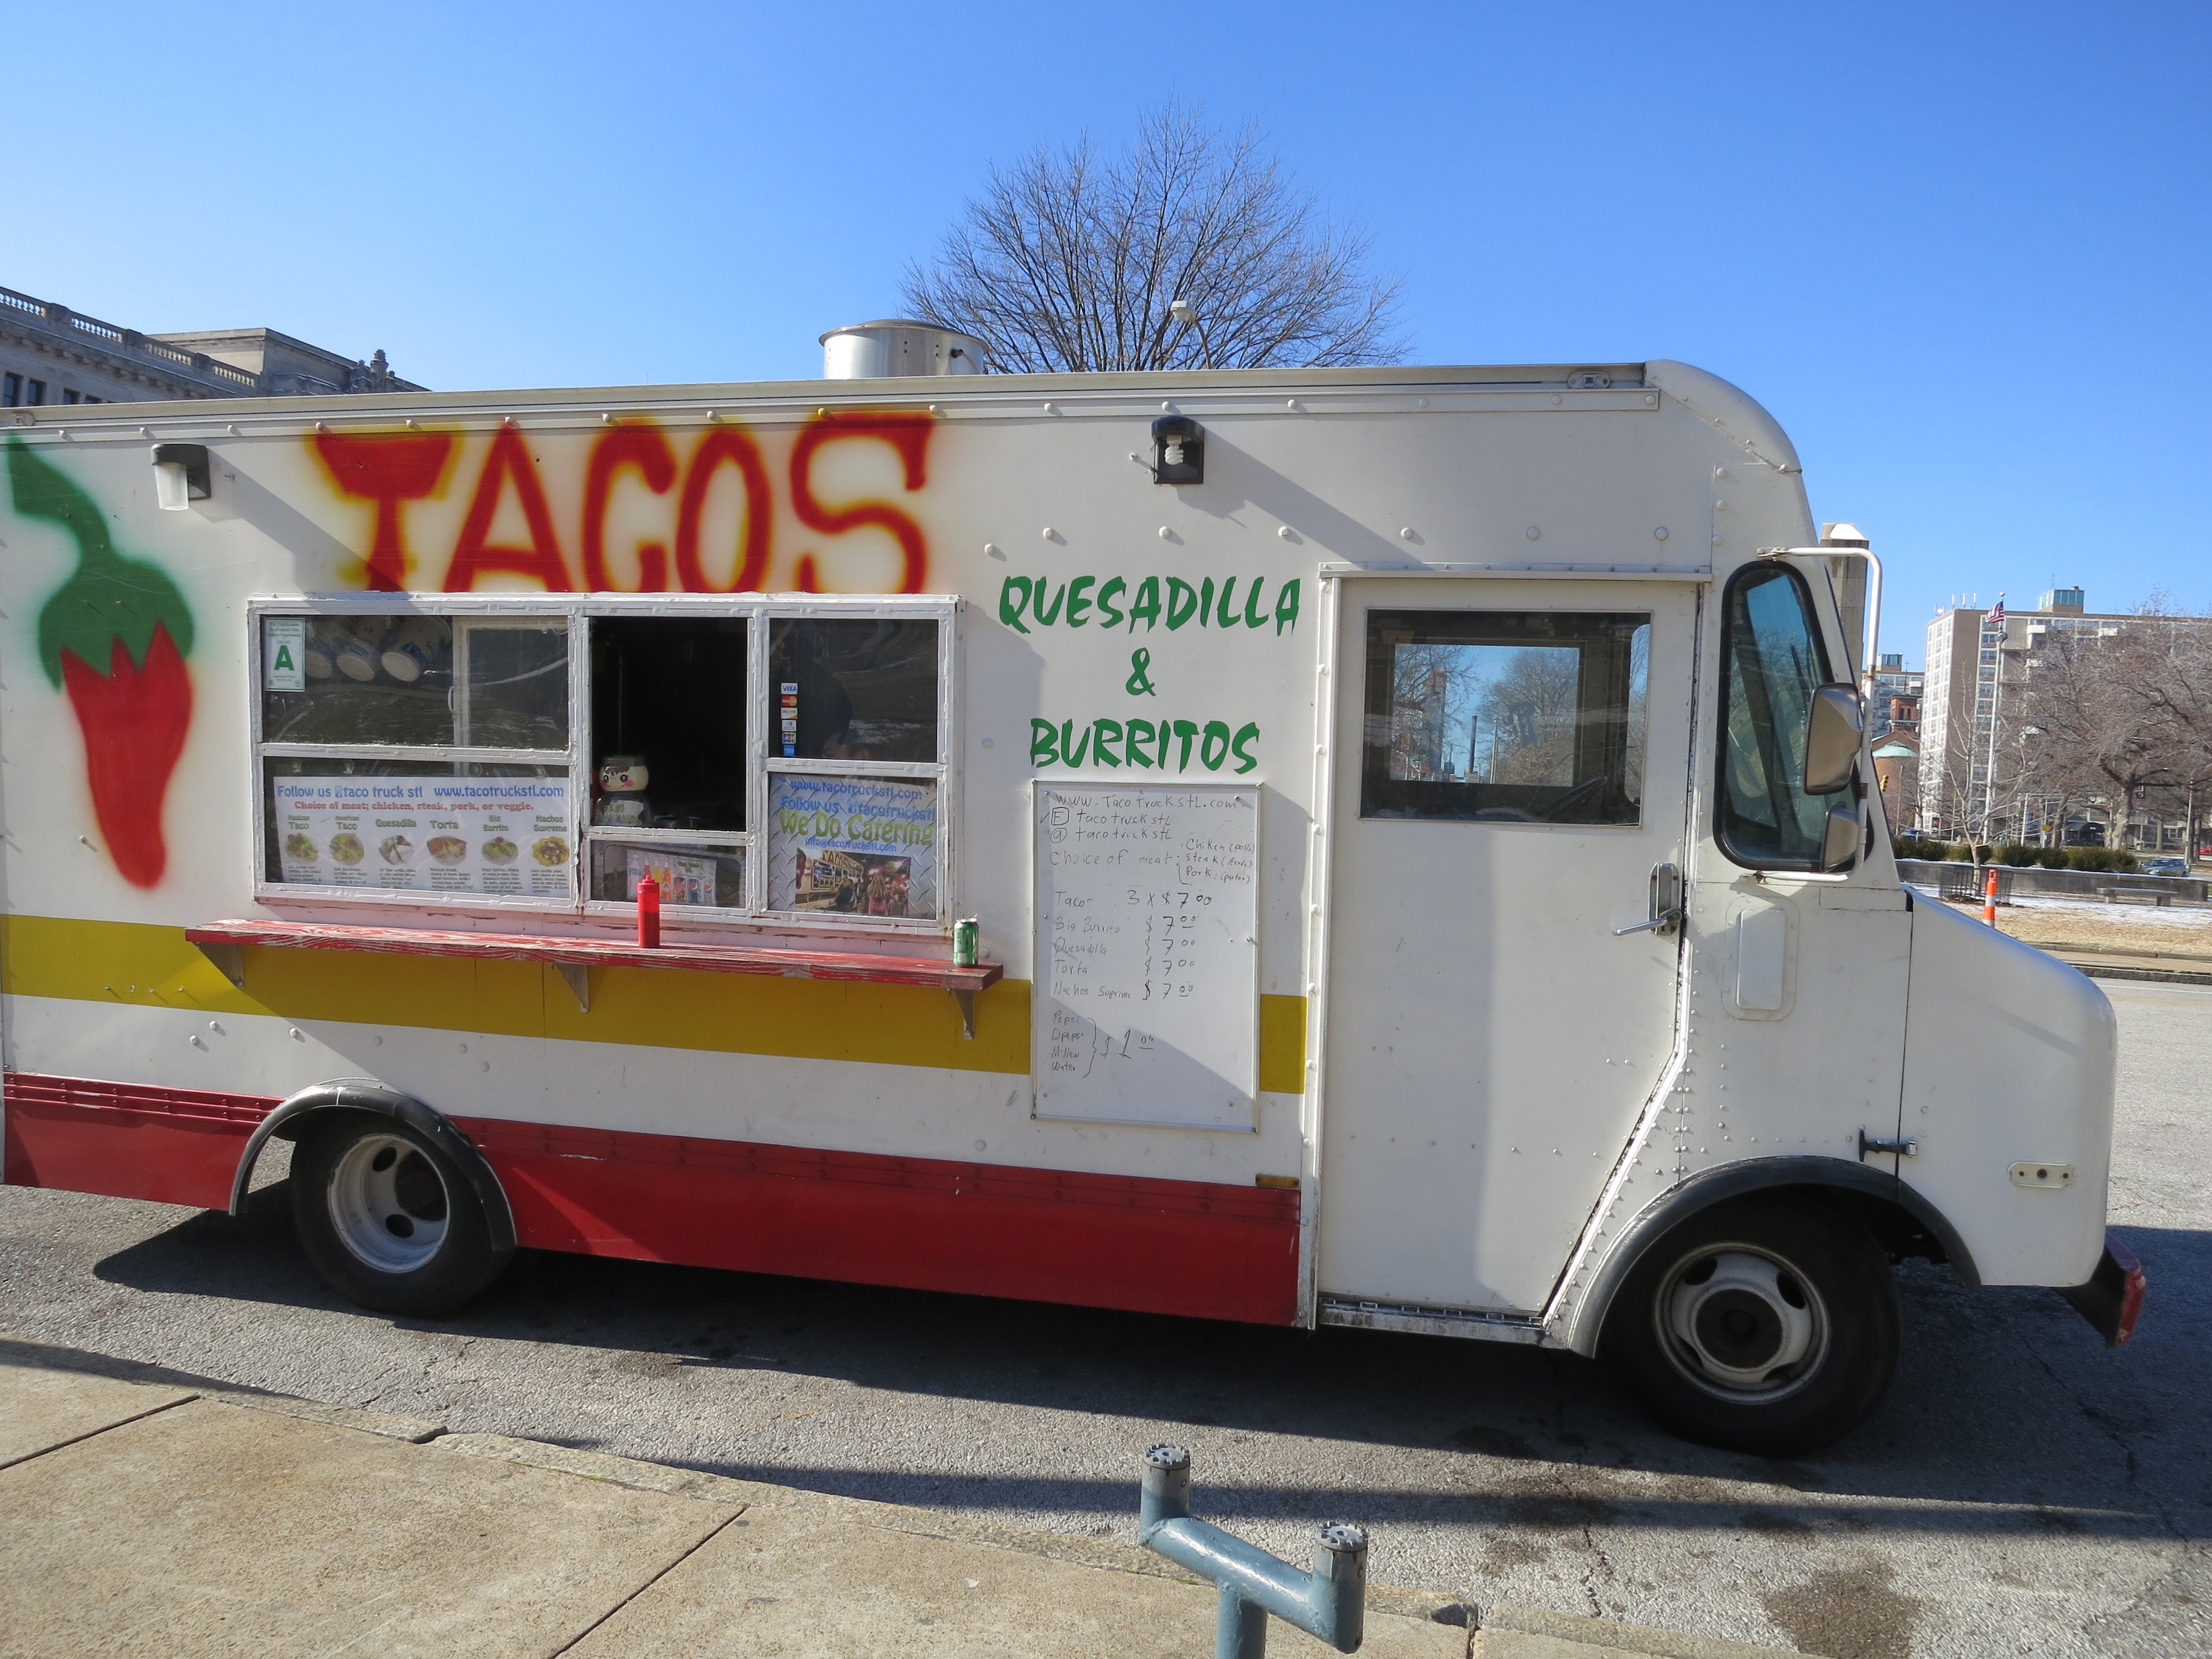
[[[593, 922], [630, 922], [635, 902], [591, 896], [593, 843], [650, 843], [666, 847], [741, 849], [745, 858], [745, 902], [681, 905], [664, 911], [664, 922], [748, 925], [823, 933], [951, 933], [958, 914], [958, 863], [953, 799], [958, 792], [960, 732], [956, 692], [962, 602], [958, 595], [867, 593], [867, 595], [717, 595], [717, 593], [261, 593], [246, 602], [248, 743], [252, 792], [252, 891], [263, 905], [374, 905], [383, 911], [520, 911]], [[568, 630], [568, 745], [564, 750], [507, 750], [420, 743], [274, 743], [263, 739], [261, 648], [263, 617], [453, 617], [491, 622], [564, 619]], [[626, 830], [593, 825], [591, 779], [591, 624], [597, 617], [743, 617], [745, 619], [745, 830]], [[801, 761], [770, 754], [770, 626], [781, 619], [865, 622], [872, 617], [938, 624], [938, 759], [936, 761]], [[458, 730], [456, 730], [458, 734]], [[568, 779], [568, 896], [529, 894], [431, 894], [378, 887], [332, 887], [272, 880], [268, 847], [272, 759], [327, 759], [332, 763], [418, 761], [473, 765], [542, 765]], [[936, 916], [841, 916], [768, 907], [768, 794], [772, 772], [814, 776], [889, 776], [936, 785]]]

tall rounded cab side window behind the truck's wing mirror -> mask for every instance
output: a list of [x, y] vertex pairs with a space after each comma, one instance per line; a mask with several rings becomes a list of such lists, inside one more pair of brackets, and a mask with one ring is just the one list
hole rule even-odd
[[1805, 577], [1787, 564], [1741, 571], [1728, 584], [1721, 661], [1721, 849], [1752, 869], [1818, 869], [1829, 801], [1805, 794], [1805, 734], [1827, 657]]

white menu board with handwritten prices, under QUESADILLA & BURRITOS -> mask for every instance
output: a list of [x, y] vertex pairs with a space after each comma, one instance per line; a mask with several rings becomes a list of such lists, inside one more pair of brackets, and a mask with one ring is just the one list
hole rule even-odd
[[1259, 790], [1037, 783], [1037, 1117], [1254, 1128]]

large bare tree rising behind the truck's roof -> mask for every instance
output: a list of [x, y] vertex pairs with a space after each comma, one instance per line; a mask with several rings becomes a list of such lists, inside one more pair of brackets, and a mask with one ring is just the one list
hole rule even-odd
[[1086, 135], [991, 168], [902, 288], [914, 316], [978, 336], [1000, 372], [1332, 369], [1405, 354], [1398, 281], [1367, 274], [1369, 248], [1252, 124], [1221, 135], [1166, 104], [1124, 155]]

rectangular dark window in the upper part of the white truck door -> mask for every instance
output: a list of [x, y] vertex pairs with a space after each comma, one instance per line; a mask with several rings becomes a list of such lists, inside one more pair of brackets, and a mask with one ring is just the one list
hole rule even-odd
[[1369, 611], [1363, 818], [1637, 823], [1650, 615]]

